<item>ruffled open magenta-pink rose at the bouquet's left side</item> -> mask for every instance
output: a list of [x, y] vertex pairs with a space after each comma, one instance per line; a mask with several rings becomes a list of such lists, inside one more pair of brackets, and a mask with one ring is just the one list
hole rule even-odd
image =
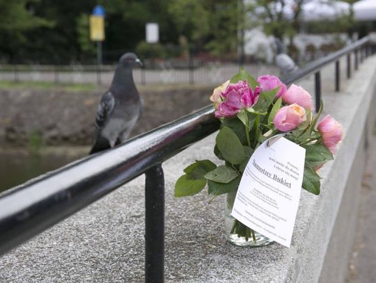
[[253, 91], [247, 81], [230, 83], [221, 94], [224, 101], [215, 111], [215, 117], [233, 117], [242, 109], [253, 106], [258, 100], [260, 91], [259, 87]]

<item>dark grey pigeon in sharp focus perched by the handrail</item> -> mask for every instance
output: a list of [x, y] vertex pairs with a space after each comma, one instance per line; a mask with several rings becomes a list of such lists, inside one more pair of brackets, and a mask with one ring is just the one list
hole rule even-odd
[[133, 81], [132, 67], [141, 60], [134, 53], [121, 56], [111, 86], [104, 92], [95, 119], [95, 142], [90, 154], [101, 152], [120, 143], [141, 115], [143, 102]]

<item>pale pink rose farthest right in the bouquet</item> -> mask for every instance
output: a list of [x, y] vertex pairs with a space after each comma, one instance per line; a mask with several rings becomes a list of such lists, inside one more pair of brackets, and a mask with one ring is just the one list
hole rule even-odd
[[331, 115], [327, 115], [319, 124], [318, 131], [322, 136], [322, 143], [330, 150], [332, 154], [336, 154], [336, 145], [342, 140], [343, 128]]

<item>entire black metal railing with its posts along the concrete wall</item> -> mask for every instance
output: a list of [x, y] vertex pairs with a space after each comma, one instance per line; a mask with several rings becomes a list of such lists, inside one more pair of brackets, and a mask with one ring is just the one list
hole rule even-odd
[[[370, 54], [370, 40], [363, 38], [297, 70], [287, 84], [315, 74], [315, 97], [320, 101], [320, 69], [336, 63], [335, 89], [340, 89], [339, 59], [358, 51]], [[363, 60], [363, 57], [362, 57]], [[361, 60], [361, 61], [362, 61]], [[355, 60], [355, 66], [358, 61]], [[164, 277], [164, 177], [161, 164], [189, 145], [219, 129], [214, 109], [207, 106], [162, 127], [137, 136], [114, 149], [88, 156], [10, 189], [0, 197], [0, 255], [48, 227], [71, 216], [128, 181], [146, 174], [146, 282]]]

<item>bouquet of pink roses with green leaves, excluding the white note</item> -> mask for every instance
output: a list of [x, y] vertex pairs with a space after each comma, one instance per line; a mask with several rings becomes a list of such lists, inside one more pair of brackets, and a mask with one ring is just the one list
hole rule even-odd
[[[214, 154], [224, 164], [198, 160], [189, 165], [176, 181], [175, 197], [195, 195], [207, 186], [212, 199], [225, 193], [232, 196], [227, 199], [228, 208], [232, 209], [251, 155], [267, 138], [279, 134], [306, 149], [302, 188], [315, 195], [320, 193], [317, 171], [333, 159], [343, 135], [342, 126], [330, 115], [318, 123], [322, 102], [313, 115], [312, 97], [301, 86], [292, 84], [287, 88], [273, 75], [254, 79], [244, 69], [215, 88], [210, 100], [215, 117], [221, 121]], [[233, 221], [230, 233], [256, 242], [253, 229]]]

